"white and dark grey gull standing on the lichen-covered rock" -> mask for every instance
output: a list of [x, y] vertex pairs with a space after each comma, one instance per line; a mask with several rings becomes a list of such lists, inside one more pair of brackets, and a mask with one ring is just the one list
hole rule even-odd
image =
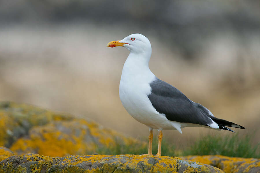
[[119, 96], [127, 112], [149, 128], [148, 155], [152, 155], [153, 129], [159, 130], [157, 155], [161, 155], [164, 129], [175, 129], [180, 133], [184, 127], [202, 126], [232, 132], [228, 127], [245, 129], [241, 125], [216, 118], [207, 108], [158, 79], [149, 69], [152, 47], [144, 35], [131, 34], [123, 40], [107, 44], [110, 48], [116, 46], [130, 50], [122, 70]]

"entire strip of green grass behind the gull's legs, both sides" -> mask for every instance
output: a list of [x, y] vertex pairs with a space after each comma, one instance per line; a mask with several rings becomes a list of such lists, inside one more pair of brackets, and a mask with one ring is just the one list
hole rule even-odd
[[[260, 158], [260, 143], [253, 146], [254, 136], [239, 136], [236, 134], [221, 135], [213, 134], [200, 137], [191, 146], [182, 151], [176, 151], [175, 147], [162, 140], [161, 155], [164, 156], [186, 156], [186, 155], [224, 155], [229, 157]], [[157, 153], [158, 140], [153, 139], [153, 154]], [[103, 147], [96, 150], [99, 154], [118, 155], [118, 154], [146, 154], [148, 144], [137, 144], [133, 146], [125, 145], [117, 141], [113, 147]]]

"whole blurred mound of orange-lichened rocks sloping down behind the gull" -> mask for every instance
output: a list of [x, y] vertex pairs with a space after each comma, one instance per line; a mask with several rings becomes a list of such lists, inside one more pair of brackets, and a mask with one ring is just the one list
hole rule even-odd
[[0, 146], [23, 155], [50, 157], [93, 154], [97, 148], [144, 144], [89, 119], [44, 110], [27, 104], [0, 102]]

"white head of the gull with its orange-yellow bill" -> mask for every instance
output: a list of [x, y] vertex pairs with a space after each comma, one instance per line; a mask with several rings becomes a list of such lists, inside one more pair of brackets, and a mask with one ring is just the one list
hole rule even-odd
[[131, 34], [123, 40], [111, 41], [107, 44], [107, 47], [110, 48], [116, 46], [123, 46], [130, 50], [131, 53], [136, 54], [152, 52], [150, 41], [142, 34]]

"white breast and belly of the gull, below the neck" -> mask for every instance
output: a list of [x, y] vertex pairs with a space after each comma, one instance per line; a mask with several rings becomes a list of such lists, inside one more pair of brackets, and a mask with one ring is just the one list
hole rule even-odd
[[127, 112], [137, 121], [154, 129], [172, 128], [172, 123], [155, 110], [147, 97], [150, 84], [156, 79], [147, 66], [140, 68], [127, 59], [122, 70], [119, 86], [120, 100]]

